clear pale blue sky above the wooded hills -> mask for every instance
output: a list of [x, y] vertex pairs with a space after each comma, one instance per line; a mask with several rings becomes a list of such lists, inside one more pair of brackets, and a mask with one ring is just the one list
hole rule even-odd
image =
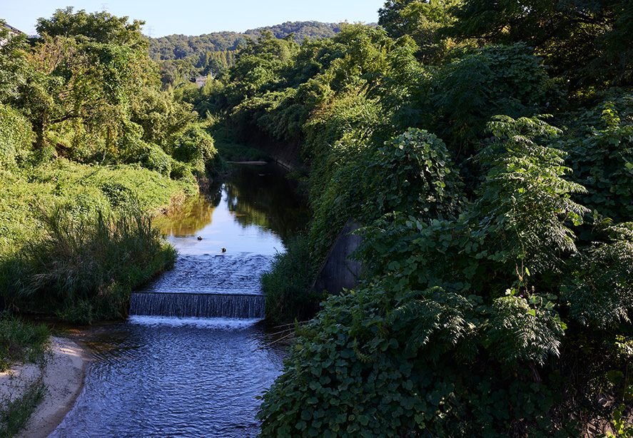
[[217, 31], [243, 32], [284, 21], [350, 23], [378, 21], [384, 0], [0, 0], [0, 18], [7, 24], [33, 34], [39, 17], [50, 18], [56, 9], [102, 11], [146, 21], [143, 34], [153, 37], [171, 34], [201, 35]]

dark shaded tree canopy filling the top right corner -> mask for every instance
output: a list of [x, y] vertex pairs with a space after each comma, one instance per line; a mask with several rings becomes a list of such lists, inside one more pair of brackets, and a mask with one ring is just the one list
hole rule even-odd
[[[440, 32], [457, 40], [485, 44], [525, 41], [545, 58], [555, 76], [566, 76], [571, 88], [582, 81], [604, 84], [627, 77], [614, 68], [631, 66], [629, 0], [464, 0], [451, 9], [457, 18]], [[611, 57], [611, 62], [604, 62]], [[604, 73], [609, 73], [604, 76]]]

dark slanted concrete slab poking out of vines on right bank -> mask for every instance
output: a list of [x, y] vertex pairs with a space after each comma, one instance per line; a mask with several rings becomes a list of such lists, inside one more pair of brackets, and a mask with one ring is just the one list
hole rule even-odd
[[327, 290], [330, 294], [340, 295], [343, 289], [356, 287], [361, 266], [349, 256], [363, 240], [362, 236], [352, 234], [362, 226], [354, 220], [345, 224], [311, 287], [313, 292]]

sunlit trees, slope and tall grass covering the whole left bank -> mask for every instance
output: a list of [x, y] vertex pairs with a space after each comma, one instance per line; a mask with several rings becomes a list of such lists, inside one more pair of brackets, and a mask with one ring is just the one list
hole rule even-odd
[[143, 23], [59, 9], [0, 40], [0, 304], [88, 323], [173, 263], [150, 214], [221, 163], [206, 125], [161, 91]]

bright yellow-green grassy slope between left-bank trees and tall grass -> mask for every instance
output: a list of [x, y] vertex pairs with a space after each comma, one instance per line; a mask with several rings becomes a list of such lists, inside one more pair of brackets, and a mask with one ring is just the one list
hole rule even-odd
[[191, 180], [174, 181], [129, 165], [97, 167], [59, 158], [26, 170], [0, 170], [0, 258], [13, 254], [27, 241], [41, 238], [39, 216], [52, 205], [72, 205], [76, 214], [108, 210], [117, 200], [117, 193], [108, 188], [118, 188], [119, 198], [136, 195], [148, 210], [196, 193]]

